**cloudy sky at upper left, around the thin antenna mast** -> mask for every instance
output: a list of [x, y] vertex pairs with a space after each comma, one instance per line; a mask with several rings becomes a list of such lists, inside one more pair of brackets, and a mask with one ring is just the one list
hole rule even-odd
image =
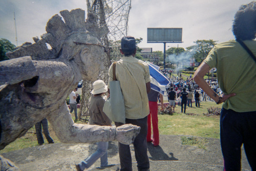
[[40, 37], [46, 33], [45, 27], [48, 20], [61, 10], [72, 10], [76, 8], [87, 9], [86, 1], [73, 0], [8, 0], [0, 1], [0, 37], [9, 39], [14, 45], [15, 25], [14, 11], [16, 15], [18, 45], [24, 42], [33, 42], [32, 37]]

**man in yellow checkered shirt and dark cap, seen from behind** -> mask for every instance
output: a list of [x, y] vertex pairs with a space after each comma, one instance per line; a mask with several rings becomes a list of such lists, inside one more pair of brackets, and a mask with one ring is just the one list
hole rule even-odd
[[[125, 105], [125, 123], [141, 127], [139, 135], [134, 140], [135, 158], [138, 170], [150, 170], [147, 156], [147, 93], [150, 92], [150, 71], [146, 62], [135, 58], [136, 40], [131, 36], [124, 36], [121, 40], [121, 54], [124, 55], [116, 63], [116, 78], [120, 81]], [[109, 82], [113, 80], [112, 66], [109, 69]], [[108, 83], [109, 88], [109, 83]], [[115, 122], [116, 126], [123, 123]], [[120, 170], [132, 170], [132, 156], [130, 145], [118, 143]]]

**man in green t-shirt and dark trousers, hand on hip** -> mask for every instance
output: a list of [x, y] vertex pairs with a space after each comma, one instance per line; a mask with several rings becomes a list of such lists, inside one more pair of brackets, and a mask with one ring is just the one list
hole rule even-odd
[[[242, 145], [251, 170], [256, 170], [255, 1], [239, 8], [234, 15], [232, 31], [236, 39], [216, 45], [195, 72], [194, 79], [217, 104], [224, 102], [220, 117], [224, 170], [241, 170]], [[217, 68], [222, 96], [203, 78], [211, 68]]]

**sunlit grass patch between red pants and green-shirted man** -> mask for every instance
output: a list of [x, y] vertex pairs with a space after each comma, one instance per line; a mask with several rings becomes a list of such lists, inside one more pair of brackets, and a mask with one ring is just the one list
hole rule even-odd
[[221, 108], [215, 102], [201, 102], [200, 108], [193, 103], [192, 108], [186, 108], [186, 114], [181, 113], [181, 106], [176, 105], [173, 115], [158, 115], [160, 135], [193, 135], [200, 137], [220, 138], [220, 116], [205, 116], [207, 109]]

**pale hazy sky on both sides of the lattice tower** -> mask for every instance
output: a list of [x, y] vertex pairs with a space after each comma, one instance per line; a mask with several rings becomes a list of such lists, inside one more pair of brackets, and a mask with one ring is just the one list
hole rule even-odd
[[[123, 0], [124, 2], [124, 0]], [[132, 0], [128, 35], [143, 38], [140, 48], [163, 51], [162, 43], [147, 43], [147, 28], [182, 28], [179, 47], [189, 47], [198, 39], [223, 42], [233, 39], [233, 16], [249, 0]], [[0, 38], [18, 46], [33, 42], [32, 37], [46, 33], [48, 20], [61, 10], [81, 8], [87, 12], [86, 0], [0, 0]], [[166, 49], [178, 44], [166, 44]]]

